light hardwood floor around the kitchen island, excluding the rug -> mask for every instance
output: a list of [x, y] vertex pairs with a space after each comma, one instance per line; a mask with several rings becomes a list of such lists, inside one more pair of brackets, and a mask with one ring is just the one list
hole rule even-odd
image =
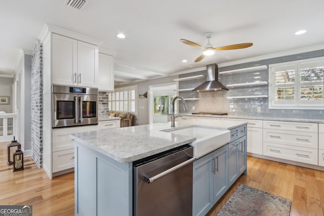
[[[35, 216], [74, 215], [73, 172], [49, 180], [31, 157], [24, 159], [25, 170], [12, 172], [7, 144], [0, 143], [0, 205], [32, 205]], [[248, 175], [242, 175], [207, 216], [214, 216], [240, 184], [292, 200], [292, 215], [324, 215], [323, 171], [248, 157]]]

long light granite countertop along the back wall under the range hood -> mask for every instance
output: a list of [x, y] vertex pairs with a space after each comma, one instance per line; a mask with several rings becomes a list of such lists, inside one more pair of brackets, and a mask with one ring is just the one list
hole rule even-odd
[[251, 119], [251, 120], [269, 120], [269, 121], [292, 121], [292, 122], [308, 122], [308, 123], [324, 123], [324, 119], [311, 118], [284, 118], [284, 117], [263, 117], [263, 116], [238, 116], [238, 115], [192, 115], [179, 114], [183, 116], [199, 116], [211, 118], [237, 118], [237, 119]]

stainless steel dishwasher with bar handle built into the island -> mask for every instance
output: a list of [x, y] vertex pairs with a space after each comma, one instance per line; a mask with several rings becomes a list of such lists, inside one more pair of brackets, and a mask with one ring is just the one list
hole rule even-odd
[[134, 216], [192, 215], [193, 147], [134, 162]]

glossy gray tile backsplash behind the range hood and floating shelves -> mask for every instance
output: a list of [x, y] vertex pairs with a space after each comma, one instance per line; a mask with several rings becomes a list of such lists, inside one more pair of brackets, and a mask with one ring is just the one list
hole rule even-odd
[[[260, 65], [276, 64], [281, 62], [296, 61], [301, 59], [316, 58], [324, 56], [324, 50], [312, 51], [307, 53], [294, 54], [278, 58], [265, 59], [260, 61], [248, 62], [237, 65], [220, 67], [219, 72], [248, 68]], [[179, 78], [206, 74], [206, 71], [197, 71], [179, 75]], [[180, 89], [195, 88], [206, 80], [206, 77], [200, 79], [179, 81]], [[235, 74], [219, 74], [218, 80], [223, 84], [235, 84], [254, 81], [268, 81], [268, 69], [254, 72], [242, 72]], [[260, 117], [288, 117], [288, 118], [310, 118], [324, 119], [324, 110], [285, 110], [285, 109], [269, 109], [268, 98], [235, 98], [228, 99], [233, 96], [257, 96], [268, 95], [268, 85], [256, 85], [254, 87], [229, 88], [229, 91], [216, 92], [179, 92], [184, 98], [197, 98], [199, 100], [187, 100], [188, 111], [179, 113], [190, 114], [192, 112], [227, 112], [237, 116], [260, 116]], [[192, 107], [194, 106], [194, 110]], [[181, 106], [179, 106], [181, 107]], [[260, 107], [261, 111], [257, 111]]]

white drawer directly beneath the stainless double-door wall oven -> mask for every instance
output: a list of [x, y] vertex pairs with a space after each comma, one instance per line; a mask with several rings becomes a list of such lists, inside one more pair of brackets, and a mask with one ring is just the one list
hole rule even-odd
[[53, 152], [74, 148], [73, 139], [70, 138], [70, 134], [82, 133], [87, 131], [96, 131], [97, 129], [98, 129], [97, 125], [53, 129], [52, 131]]

